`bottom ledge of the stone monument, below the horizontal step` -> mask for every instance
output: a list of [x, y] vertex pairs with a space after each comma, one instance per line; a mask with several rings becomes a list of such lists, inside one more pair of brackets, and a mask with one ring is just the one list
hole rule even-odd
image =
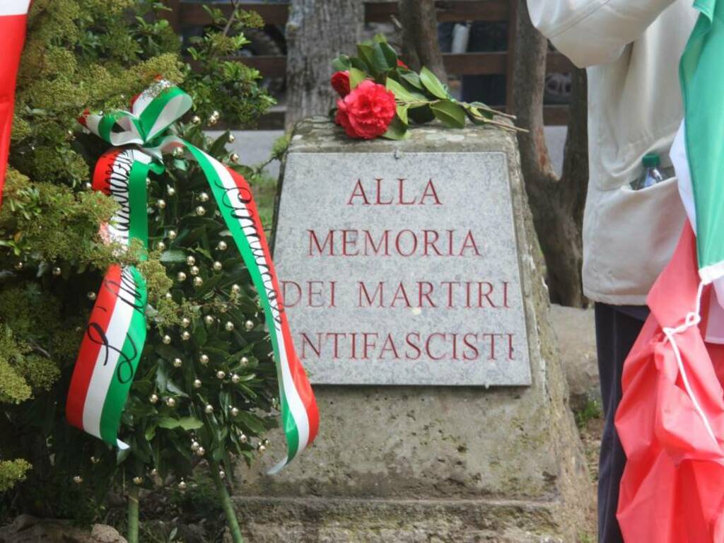
[[[249, 543], [563, 543], [560, 504], [518, 500], [237, 500]], [[572, 540], [571, 540], [572, 541]]]

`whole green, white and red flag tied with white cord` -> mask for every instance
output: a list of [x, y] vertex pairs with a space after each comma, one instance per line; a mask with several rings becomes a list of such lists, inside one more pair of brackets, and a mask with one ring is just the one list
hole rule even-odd
[[724, 0], [694, 9], [671, 149], [689, 222], [649, 292], [616, 413], [627, 542], [724, 541]]

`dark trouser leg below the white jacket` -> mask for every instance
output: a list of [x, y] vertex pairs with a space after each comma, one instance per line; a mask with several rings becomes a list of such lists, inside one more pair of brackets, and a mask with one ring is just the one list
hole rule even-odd
[[645, 308], [596, 304], [596, 345], [605, 416], [598, 480], [599, 543], [623, 542], [616, 520], [616, 509], [626, 455], [621, 448], [613, 421], [621, 400], [623, 362], [626, 361], [636, 337], [639, 337], [645, 315]]

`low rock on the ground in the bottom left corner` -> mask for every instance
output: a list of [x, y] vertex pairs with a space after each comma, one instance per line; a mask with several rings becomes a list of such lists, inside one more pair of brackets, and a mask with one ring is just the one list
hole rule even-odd
[[96, 524], [90, 530], [54, 521], [20, 515], [0, 529], [0, 543], [127, 543], [111, 526]]

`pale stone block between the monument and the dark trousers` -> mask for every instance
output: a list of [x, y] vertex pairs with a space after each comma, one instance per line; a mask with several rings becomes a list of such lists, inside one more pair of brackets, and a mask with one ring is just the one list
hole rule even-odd
[[571, 408], [582, 409], [591, 400], [600, 403], [593, 309], [551, 306], [550, 316], [571, 392]]

